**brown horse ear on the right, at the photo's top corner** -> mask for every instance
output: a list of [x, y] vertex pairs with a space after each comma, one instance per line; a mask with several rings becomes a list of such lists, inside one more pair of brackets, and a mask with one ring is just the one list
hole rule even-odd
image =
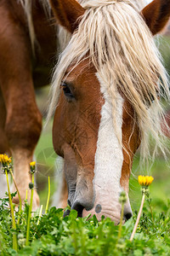
[[170, 0], [154, 0], [141, 11], [153, 35], [161, 32], [170, 17]]

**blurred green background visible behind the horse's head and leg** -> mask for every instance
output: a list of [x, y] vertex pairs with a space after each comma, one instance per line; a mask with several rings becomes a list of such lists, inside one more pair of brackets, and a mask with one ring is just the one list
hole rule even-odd
[[[156, 39], [161, 55], [165, 61], [167, 72], [170, 73], [170, 37], [161, 37]], [[48, 102], [48, 87], [37, 90], [37, 104], [42, 112], [43, 117], [46, 116], [47, 102]], [[166, 108], [170, 108], [169, 103]], [[45, 119], [43, 119], [45, 122]], [[52, 125], [51, 120], [45, 130], [42, 131], [42, 135], [36, 148], [36, 160], [37, 160], [37, 190], [40, 195], [40, 201], [43, 206], [46, 204], [48, 196], [48, 175], [51, 177], [51, 201], [53, 200], [54, 191], [57, 189], [58, 173], [54, 173], [54, 165], [57, 155], [54, 153], [52, 143]], [[170, 141], [167, 139], [167, 147], [170, 148]], [[134, 210], [139, 209], [141, 200], [141, 191], [138, 183], [139, 175], [152, 175], [154, 182], [150, 185], [150, 194], [152, 198], [152, 205], [154, 210], [163, 211], [164, 204], [170, 199], [170, 158], [168, 156], [167, 162], [160, 154], [152, 166], [150, 171], [146, 171], [144, 168], [140, 168], [139, 154], [137, 154], [133, 160], [133, 171], [129, 182], [129, 198]]]

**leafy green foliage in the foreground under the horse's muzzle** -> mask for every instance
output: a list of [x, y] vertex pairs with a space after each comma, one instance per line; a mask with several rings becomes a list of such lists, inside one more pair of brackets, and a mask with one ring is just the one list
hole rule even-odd
[[[63, 218], [63, 210], [52, 207], [42, 215], [39, 224], [38, 212], [31, 216], [30, 245], [26, 246], [26, 203], [17, 225], [19, 251], [12, 249], [12, 219], [8, 199], [1, 200], [0, 206], [0, 255], [170, 255], [170, 201], [162, 201], [164, 212], [150, 213], [151, 201], [145, 201], [134, 240], [129, 241], [137, 217], [122, 226], [122, 238], [118, 240], [118, 226], [110, 218], [98, 222], [94, 216], [77, 218], [72, 210]], [[15, 212], [17, 222], [18, 212]]]

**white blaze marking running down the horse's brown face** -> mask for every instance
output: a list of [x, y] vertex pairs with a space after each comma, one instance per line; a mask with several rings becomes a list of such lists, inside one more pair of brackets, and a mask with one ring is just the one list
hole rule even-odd
[[[111, 210], [118, 204], [119, 193], [122, 191], [120, 178], [122, 176], [122, 105], [120, 94], [116, 96], [116, 128], [113, 125], [111, 96], [108, 95], [105, 84], [96, 73], [100, 83], [100, 90], [105, 104], [101, 109], [101, 119], [94, 165], [94, 207], [101, 204]], [[109, 201], [109, 204], [108, 204]], [[108, 207], [109, 206], [109, 207]], [[102, 208], [103, 208], [102, 207]], [[104, 209], [105, 210], [105, 209]], [[115, 209], [117, 211], [117, 209]]]

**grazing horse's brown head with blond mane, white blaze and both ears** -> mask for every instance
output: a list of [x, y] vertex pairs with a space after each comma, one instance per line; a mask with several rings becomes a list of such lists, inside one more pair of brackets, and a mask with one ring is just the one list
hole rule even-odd
[[[153, 36], [170, 16], [169, 0], [139, 11], [130, 0], [50, 0], [71, 40], [54, 70], [48, 119], [53, 143], [64, 158], [68, 204], [79, 217], [120, 221], [132, 216], [128, 183], [133, 156], [164, 153], [160, 96], [169, 98], [167, 73]], [[150, 134], [155, 148], [150, 152]], [[65, 215], [69, 211], [65, 212]]]

